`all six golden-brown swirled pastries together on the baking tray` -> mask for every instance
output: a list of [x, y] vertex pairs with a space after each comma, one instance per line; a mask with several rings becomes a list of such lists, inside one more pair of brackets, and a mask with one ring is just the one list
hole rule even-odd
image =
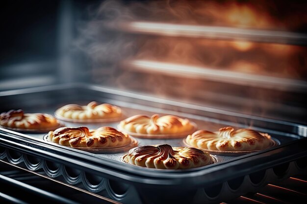
[[272, 146], [268, 134], [252, 129], [234, 130], [221, 128], [217, 132], [197, 130], [186, 118], [175, 115], [134, 115], [121, 120], [117, 129], [100, 127], [89, 130], [81, 127], [63, 126], [60, 120], [93, 122], [112, 121], [121, 118], [121, 108], [110, 104], [91, 102], [86, 106], [68, 104], [55, 111], [55, 117], [45, 113], [24, 113], [11, 110], [0, 114], [0, 125], [8, 128], [50, 130], [48, 140], [60, 145], [86, 148], [123, 147], [133, 142], [133, 137], [177, 138], [184, 136], [187, 147], [171, 147], [168, 144], [134, 147], [124, 157], [130, 164], [149, 168], [186, 169], [213, 162], [207, 151], [254, 151]]

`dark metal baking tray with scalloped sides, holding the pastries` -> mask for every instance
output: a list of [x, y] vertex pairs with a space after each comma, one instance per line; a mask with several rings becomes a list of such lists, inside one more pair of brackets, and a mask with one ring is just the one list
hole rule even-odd
[[[178, 115], [195, 122], [198, 129], [209, 131], [217, 131], [225, 126], [252, 126], [256, 131], [268, 133], [279, 143], [249, 154], [213, 155], [218, 162], [204, 167], [160, 170], [122, 162], [121, 157], [128, 150], [119, 153], [87, 152], [46, 141], [46, 133], [20, 133], [1, 128], [0, 159], [31, 171], [43, 170], [43, 174], [51, 178], [80, 186], [117, 202], [133, 201], [136, 204], [170, 201], [217, 203], [256, 190], [268, 182], [306, 171], [306, 166], [301, 163], [307, 157], [307, 127], [302, 124], [86, 84], [3, 91], [0, 92], [0, 111], [23, 109], [28, 113], [53, 114], [63, 105], [87, 104], [90, 101], [119, 106], [127, 117], [154, 113]], [[94, 129], [101, 126], [116, 128], [119, 122], [63, 123], [70, 127], [86, 126]], [[184, 146], [182, 138], [136, 139], [138, 145]], [[185, 194], [186, 198], [182, 200], [181, 194]]]

